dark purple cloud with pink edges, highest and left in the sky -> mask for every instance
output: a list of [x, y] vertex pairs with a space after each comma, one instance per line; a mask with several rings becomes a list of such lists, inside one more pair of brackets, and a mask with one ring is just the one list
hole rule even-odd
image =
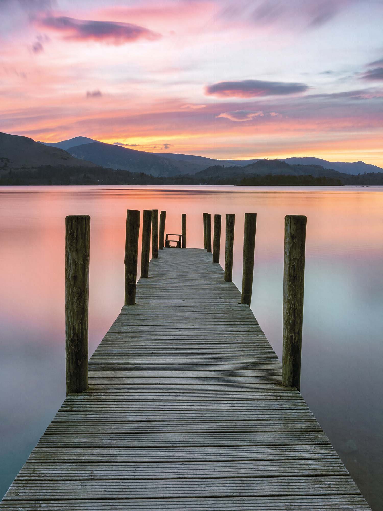
[[161, 37], [145, 27], [116, 21], [93, 21], [66, 16], [46, 16], [37, 21], [40, 27], [64, 34], [71, 41], [99, 41], [115, 46], [138, 39], [153, 41]]

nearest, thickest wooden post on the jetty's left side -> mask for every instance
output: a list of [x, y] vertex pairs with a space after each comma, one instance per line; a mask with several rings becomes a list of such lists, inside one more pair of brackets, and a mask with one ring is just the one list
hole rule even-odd
[[88, 388], [90, 217], [65, 218], [66, 394]]

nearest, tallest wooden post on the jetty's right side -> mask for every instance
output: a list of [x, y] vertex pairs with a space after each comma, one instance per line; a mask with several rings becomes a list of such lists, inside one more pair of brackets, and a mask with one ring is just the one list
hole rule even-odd
[[284, 217], [282, 384], [300, 387], [307, 218]]

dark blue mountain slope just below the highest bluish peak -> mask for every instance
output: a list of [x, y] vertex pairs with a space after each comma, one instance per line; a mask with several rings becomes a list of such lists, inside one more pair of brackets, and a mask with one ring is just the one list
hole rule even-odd
[[204, 167], [193, 162], [171, 160], [153, 153], [102, 142], [71, 147], [68, 152], [76, 158], [93, 161], [94, 164], [105, 168], [144, 172], [152, 176], [195, 174]]

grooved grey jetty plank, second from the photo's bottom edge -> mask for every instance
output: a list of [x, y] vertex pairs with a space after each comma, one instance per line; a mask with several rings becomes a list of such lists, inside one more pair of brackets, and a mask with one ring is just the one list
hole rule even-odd
[[94, 499], [166, 498], [178, 497], [233, 497], [233, 496], [304, 496], [309, 495], [360, 495], [349, 476], [307, 476], [267, 478], [222, 479], [156, 479], [156, 480], [79, 480], [56, 481], [15, 480], [5, 500], [28, 498], [60, 499], [81, 498], [91, 495]]

